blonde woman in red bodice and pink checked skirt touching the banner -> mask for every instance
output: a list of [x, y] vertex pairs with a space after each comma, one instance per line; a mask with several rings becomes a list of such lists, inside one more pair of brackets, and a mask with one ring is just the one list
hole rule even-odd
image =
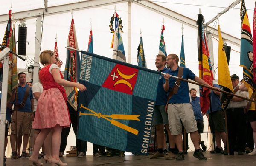
[[[45, 50], [40, 54], [40, 62], [44, 65], [39, 72], [39, 79], [44, 91], [38, 99], [38, 107], [35, 114], [33, 129], [41, 129], [35, 141], [34, 151], [29, 160], [35, 166], [43, 164], [38, 160], [38, 152], [47, 137], [52, 131], [52, 166], [67, 166], [59, 158], [61, 141], [61, 130], [69, 127], [70, 117], [68, 114], [66, 93], [63, 86], [77, 87], [80, 91], [86, 90], [83, 84], [70, 82], [61, 78], [60, 68], [55, 64], [54, 53]], [[47, 146], [47, 145], [46, 145]]]

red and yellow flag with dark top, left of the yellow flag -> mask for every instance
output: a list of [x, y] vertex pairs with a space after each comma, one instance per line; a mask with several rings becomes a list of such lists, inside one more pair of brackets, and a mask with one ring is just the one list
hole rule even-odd
[[[209, 85], [212, 85], [213, 74], [211, 61], [209, 56], [209, 50], [207, 46], [207, 40], [204, 33], [204, 17], [202, 14], [198, 14], [198, 61], [199, 61], [199, 77], [207, 82]], [[206, 87], [199, 87], [200, 89], [200, 106], [202, 113], [210, 107], [210, 90]]]

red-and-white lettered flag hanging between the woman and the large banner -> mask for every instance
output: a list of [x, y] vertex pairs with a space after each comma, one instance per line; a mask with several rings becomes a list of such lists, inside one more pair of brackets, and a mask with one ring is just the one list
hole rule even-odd
[[[78, 49], [73, 15], [71, 19], [70, 31], [68, 34], [67, 45]], [[67, 50], [64, 79], [71, 82], [78, 82], [79, 71], [80, 71], [79, 51]], [[65, 87], [65, 90], [66, 90], [68, 102], [75, 110], [77, 110], [77, 93], [78, 93], [77, 88]]]

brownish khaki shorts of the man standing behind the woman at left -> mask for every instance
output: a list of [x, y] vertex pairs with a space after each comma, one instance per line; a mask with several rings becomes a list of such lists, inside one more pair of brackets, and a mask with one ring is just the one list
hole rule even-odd
[[[31, 124], [32, 124], [31, 115], [32, 115], [32, 112], [18, 111], [18, 119], [17, 119], [18, 135], [30, 133]], [[15, 134], [15, 128], [16, 128], [15, 121], [16, 121], [16, 112], [12, 114], [11, 134]]]

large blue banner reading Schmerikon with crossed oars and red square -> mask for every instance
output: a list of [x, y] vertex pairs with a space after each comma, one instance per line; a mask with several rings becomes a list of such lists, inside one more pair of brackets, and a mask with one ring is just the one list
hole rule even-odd
[[160, 73], [82, 51], [78, 138], [147, 155]]

